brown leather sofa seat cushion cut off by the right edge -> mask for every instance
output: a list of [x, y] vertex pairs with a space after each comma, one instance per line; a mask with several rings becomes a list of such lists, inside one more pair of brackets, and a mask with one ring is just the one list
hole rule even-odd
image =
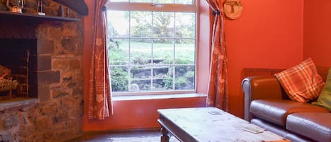
[[331, 141], [331, 113], [303, 112], [289, 114], [286, 128], [315, 141]]

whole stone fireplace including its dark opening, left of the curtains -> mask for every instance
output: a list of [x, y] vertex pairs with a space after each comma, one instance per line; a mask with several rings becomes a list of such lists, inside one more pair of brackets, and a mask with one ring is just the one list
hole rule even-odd
[[[47, 16], [58, 8], [44, 0]], [[0, 92], [0, 141], [66, 141], [82, 134], [83, 18], [70, 14], [80, 20], [0, 14], [0, 65], [18, 81], [11, 93], [16, 99], [1, 100], [8, 93]]]

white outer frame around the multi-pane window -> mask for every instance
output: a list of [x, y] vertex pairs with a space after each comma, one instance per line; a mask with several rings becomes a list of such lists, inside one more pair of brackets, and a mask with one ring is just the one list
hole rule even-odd
[[[107, 10], [112, 11], [164, 11], [164, 12], [195, 12], [195, 83], [194, 90], [150, 90], [150, 91], [139, 91], [139, 92], [112, 92], [112, 95], [171, 95], [171, 94], [184, 94], [184, 93], [196, 93], [197, 89], [197, 71], [198, 71], [198, 0], [192, 0], [193, 4], [152, 4], [152, 3], [133, 3], [133, 2], [108, 2]], [[119, 37], [120, 39], [121, 37]], [[134, 39], [135, 37], [130, 37]], [[148, 38], [148, 39], [153, 39]], [[186, 39], [186, 38], [181, 38]], [[180, 64], [179, 64], [180, 65]], [[190, 64], [185, 64], [190, 65]], [[112, 65], [117, 66], [117, 65]], [[119, 65], [121, 66], [121, 65]], [[145, 66], [145, 65], [134, 65], [134, 66]], [[150, 66], [150, 65], [146, 65]], [[162, 66], [162, 65], [160, 65]], [[110, 79], [110, 78], [109, 78]]]

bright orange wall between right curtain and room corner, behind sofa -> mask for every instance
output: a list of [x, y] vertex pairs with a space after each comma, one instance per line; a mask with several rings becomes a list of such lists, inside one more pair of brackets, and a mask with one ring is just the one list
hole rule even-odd
[[229, 110], [243, 117], [243, 68], [294, 66], [303, 57], [303, 0], [241, 0], [243, 14], [227, 20]]

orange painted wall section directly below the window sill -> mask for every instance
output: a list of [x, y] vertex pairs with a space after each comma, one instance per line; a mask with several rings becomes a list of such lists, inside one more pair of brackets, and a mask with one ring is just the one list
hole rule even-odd
[[204, 107], [205, 97], [162, 99], [162, 100], [124, 100], [113, 102], [114, 115], [105, 120], [86, 120], [83, 131], [109, 131], [124, 129], [158, 128], [157, 109]]

